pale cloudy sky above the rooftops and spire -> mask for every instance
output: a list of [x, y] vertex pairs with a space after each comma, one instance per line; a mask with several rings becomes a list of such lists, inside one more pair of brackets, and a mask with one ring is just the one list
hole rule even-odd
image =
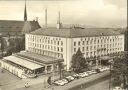
[[[97, 27], [125, 27], [127, 24], [127, 0], [29, 0], [28, 20], [39, 17], [44, 24], [45, 8], [48, 24], [56, 24], [58, 11], [64, 24], [85, 24]], [[24, 1], [0, 0], [0, 19], [23, 20]]]

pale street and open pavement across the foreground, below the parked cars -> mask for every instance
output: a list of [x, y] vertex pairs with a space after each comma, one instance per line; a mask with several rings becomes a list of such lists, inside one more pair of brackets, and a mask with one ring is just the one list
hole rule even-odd
[[[64, 86], [54, 86], [54, 88], [55, 88], [55, 90], [67, 90], [67, 89], [69, 89], [69, 90], [75, 90], [75, 89], [78, 90], [81, 84], [85, 84], [85, 83], [89, 83], [89, 82], [97, 83], [95, 81], [100, 80], [98, 78], [105, 77], [105, 76], [108, 76], [108, 75], [109, 75], [109, 71], [105, 71], [105, 72], [102, 72], [102, 73], [91, 75], [89, 77], [74, 80], [74, 81], [72, 81], [72, 82], [70, 82], [70, 83], [68, 83]], [[10, 90], [42, 90], [42, 89], [43, 90], [44, 89], [51, 90], [52, 87], [50, 87], [50, 88], [45, 88], [44, 87], [44, 86], [47, 85], [47, 83], [45, 82], [47, 77], [48, 76], [46, 76], [46, 75], [42, 75], [40, 77], [33, 78], [33, 79], [19, 79], [15, 75], [13, 75], [13, 74], [11, 74], [11, 73], [9, 73], [8, 71], [5, 70], [4, 73], [0, 74], [0, 84], [1, 84], [0, 88], [2, 90], [8, 90], [8, 88], [10, 88]], [[30, 85], [29, 88], [24, 87], [24, 84], [26, 82], [29, 83], [29, 85]], [[106, 82], [104, 82], [103, 84], [106, 84]], [[99, 84], [102, 85], [102, 83], [100, 83], [100, 82], [99, 82]], [[104, 86], [104, 85], [102, 85], [102, 86]], [[90, 90], [94, 90], [94, 89], [92, 89], [94, 87], [95, 87], [95, 85], [93, 84], [92, 86], [89, 86], [88, 88]]]

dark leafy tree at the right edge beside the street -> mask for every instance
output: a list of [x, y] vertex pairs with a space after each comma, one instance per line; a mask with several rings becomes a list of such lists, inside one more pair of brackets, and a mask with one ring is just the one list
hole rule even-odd
[[112, 78], [114, 86], [125, 87], [128, 84], [128, 54], [123, 53], [114, 58]]

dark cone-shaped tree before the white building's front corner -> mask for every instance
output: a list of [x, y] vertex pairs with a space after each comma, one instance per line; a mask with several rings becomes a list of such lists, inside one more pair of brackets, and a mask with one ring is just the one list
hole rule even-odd
[[72, 61], [71, 62], [72, 62], [71, 67], [72, 67], [73, 71], [76, 72], [76, 73], [82, 72], [84, 69], [88, 68], [87, 61], [83, 57], [83, 54], [80, 51], [80, 48], [78, 49], [76, 54], [74, 54], [72, 56]]

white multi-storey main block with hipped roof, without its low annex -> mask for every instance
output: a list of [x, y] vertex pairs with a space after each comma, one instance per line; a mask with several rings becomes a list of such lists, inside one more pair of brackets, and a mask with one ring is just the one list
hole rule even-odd
[[26, 34], [25, 45], [28, 52], [64, 59], [69, 70], [78, 48], [85, 58], [124, 51], [124, 34], [108, 28], [41, 28]]

